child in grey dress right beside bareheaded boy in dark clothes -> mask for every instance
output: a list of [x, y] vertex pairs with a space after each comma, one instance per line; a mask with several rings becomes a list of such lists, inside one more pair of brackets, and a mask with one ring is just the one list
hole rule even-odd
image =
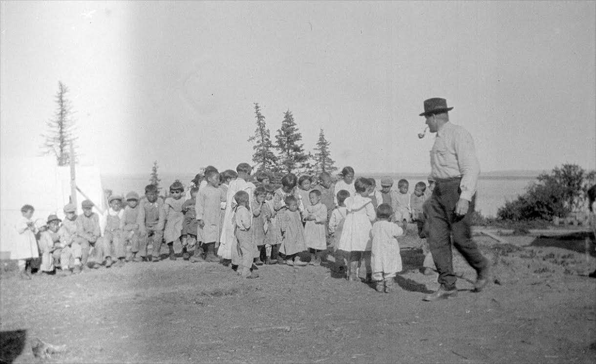
[[[182, 205], [184, 204], [182, 194], [184, 194], [184, 186], [180, 181], [175, 181], [172, 183], [172, 185], [170, 185], [171, 196], [167, 197], [166, 200], [163, 201], [163, 216], [166, 221], [163, 230], [163, 239], [167, 243], [167, 250], [169, 251], [170, 260], [176, 260], [176, 255], [174, 253], [174, 242], [179, 240], [182, 235], [182, 220], [184, 219], [184, 215], [182, 215]], [[161, 241], [153, 245], [154, 262], [159, 262], [161, 250]], [[183, 245], [182, 254], [186, 252], [187, 247], [186, 245]]]

